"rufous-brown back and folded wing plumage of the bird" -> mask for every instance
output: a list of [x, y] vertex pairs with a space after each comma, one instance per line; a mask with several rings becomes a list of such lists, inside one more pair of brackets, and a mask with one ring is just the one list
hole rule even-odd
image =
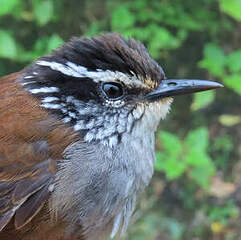
[[46, 204], [60, 150], [75, 138], [23, 90], [16, 82], [19, 76], [0, 80], [0, 239], [11, 218], [20, 229]]

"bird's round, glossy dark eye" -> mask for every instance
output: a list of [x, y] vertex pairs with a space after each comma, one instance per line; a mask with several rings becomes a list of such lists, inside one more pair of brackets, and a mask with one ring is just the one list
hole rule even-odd
[[115, 82], [103, 83], [101, 88], [105, 97], [112, 100], [121, 98], [124, 93], [121, 84]]

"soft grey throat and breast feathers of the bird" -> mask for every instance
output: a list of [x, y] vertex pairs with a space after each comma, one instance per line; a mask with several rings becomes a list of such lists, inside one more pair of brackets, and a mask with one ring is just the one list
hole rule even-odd
[[123, 133], [115, 147], [82, 141], [67, 147], [52, 203], [69, 223], [69, 234], [78, 236], [80, 225], [87, 240], [126, 231], [136, 198], [153, 174], [154, 132], [162, 115], [152, 113], [147, 111], [131, 133]]

